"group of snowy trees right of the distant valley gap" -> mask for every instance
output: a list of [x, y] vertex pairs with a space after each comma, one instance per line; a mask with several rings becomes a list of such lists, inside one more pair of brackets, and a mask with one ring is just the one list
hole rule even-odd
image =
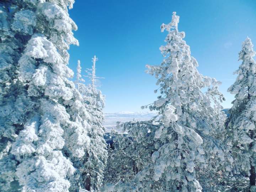
[[160, 94], [142, 108], [158, 114], [149, 121], [118, 124], [127, 134], [112, 133], [108, 184], [102, 191], [255, 192], [256, 62], [251, 40], [242, 43], [242, 64], [228, 89], [235, 100], [226, 117], [220, 82], [199, 74], [178, 22], [174, 12], [172, 21], [161, 25], [168, 32], [160, 47], [164, 60], [146, 65], [159, 85], [154, 92]]

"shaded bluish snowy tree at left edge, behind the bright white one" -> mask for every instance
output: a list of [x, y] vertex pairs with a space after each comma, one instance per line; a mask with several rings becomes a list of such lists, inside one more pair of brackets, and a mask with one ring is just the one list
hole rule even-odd
[[[17, 6], [17, 8], [15, 7]], [[27, 41], [19, 36], [13, 23], [16, 12], [20, 10], [13, 1], [0, 2], [0, 189], [10, 191], [20, 186], [16, 180], [17, 162], [10, 154], [11, 144], [25, 122], [27, 108], [26, 94], [17, 77], [18, 59]], [[16, 14], [18, 18], [19, 14]], [[28, 17], [29, 22], [20, 23], [22, 32], [31, 34], [35, 26], [34, 17]], [[22, 25], [23, 24], [23, 25]]]

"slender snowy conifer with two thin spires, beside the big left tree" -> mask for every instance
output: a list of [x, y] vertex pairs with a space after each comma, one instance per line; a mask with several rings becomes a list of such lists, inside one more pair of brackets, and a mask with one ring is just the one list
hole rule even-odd
[[[80, 168], [81, 170], [81, 187], [88, 191], [98, 191], [103, 182], [103, 172], [107, 162], [106, 142], [103, 138], [105, 128], [102, 126], [104, 120], [103, 107], [105, 106], [105, 96], [96, 87], [99, 85], [96, 77], [96, 61], [92, 58], [92, 69], [87, 69], [87, 77], [90, 78], [91, 84], [86, 86], [81, 80], [81, 67], [78, 62], [77, 67], [77, 87], [83, 97], [83, 103], [89, 112], [90, 129], [88, 136], [90, 137], [90, 145], [85, 154], [85, 159]], [[90, 71], [90, 72], [89, 72]]]

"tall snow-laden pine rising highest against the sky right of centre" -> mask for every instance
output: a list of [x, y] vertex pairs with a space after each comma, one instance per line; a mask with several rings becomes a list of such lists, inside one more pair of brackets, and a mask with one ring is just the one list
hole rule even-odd
[[[202, 186], [197, 178], [202, 170], [209, 169], [209, 173], [213, 169], [211, 158], [218, 159], [218, 167], [229, 168], [218, 140], [212, 136], [223, 129], [225, 119], [219, 105], [223, 100], [218, 91], [220, 82], [199, 74], [198, 63], [183, 40], [185, 33], [178, 32], [178, 22], [174, 12], [171, 23], [161, 25], [161, 31], [168, 32], [167, 44], [160, 47], [165, 57], [161, 65], [146, 65], [147, 73], [155, 74], [160, 85], [158, 100], [149, 105], [150, 110], [159, 111], [158, 116], [123, 124], [129, 137], [149, 147], [151, 162], [131, 182], [103, 190], [198, 192]], [[205, 94], [204, 87], [208, 87]]]

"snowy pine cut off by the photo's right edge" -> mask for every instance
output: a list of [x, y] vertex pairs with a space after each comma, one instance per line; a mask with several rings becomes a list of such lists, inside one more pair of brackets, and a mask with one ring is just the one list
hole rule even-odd
[[[235, 94], [230, 117], [226, 121], [228, 144], [232, 147], [236, 160], [235, 174], [247, 175], [250, 186], [255, 187], [256, 161], [256, 62], [253, 59], [255, 51], [250, 38], [242, 43], [239, 60], [242, 64], [234, 74], [236, 81], [228, 91]], [[251, 189], [252, 190], [252, 189]]]

